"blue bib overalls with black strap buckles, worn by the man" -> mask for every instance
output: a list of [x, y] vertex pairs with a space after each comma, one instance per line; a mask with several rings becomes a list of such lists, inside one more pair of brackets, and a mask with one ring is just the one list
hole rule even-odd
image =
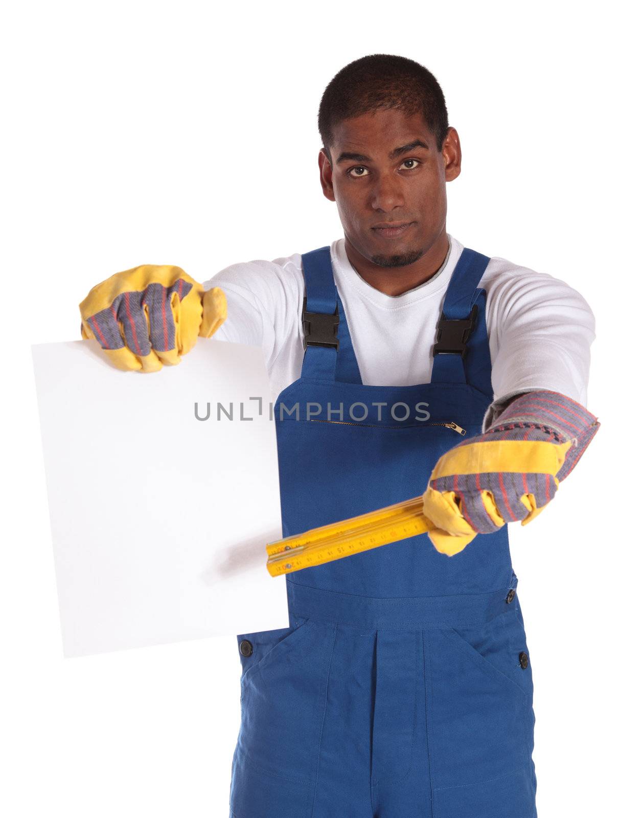
[[[488, 260], [464, 249], [456, 264], [431, 382], [367, 386], [330, 248], [303, 254], [305, 309], [321, 316], [305, 316], [301, 377], [274, 405], [283, 536], [423, 494], [464, 439], [449, 424], [480, 434], [493, 400], [478, 289]], [[336, 307], [337, 341], [325, 327]], [[461, 355], [456, 320], [468, 317]], [[237, 636], [231, 818], [537, 815], [532, 669], [506, 526], [452, 557], [422, 534], [286, 582], [290, 627]]]

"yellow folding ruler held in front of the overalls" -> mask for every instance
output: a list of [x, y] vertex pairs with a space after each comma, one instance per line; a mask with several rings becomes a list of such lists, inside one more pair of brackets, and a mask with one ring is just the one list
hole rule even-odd
[[283, 540], [267, 543], [267, 571], [272, 577], [312, 565], [340, 560], [361, 551], [415, 537], [433, 528], [422, 514], [422, 497], [311, 528]]

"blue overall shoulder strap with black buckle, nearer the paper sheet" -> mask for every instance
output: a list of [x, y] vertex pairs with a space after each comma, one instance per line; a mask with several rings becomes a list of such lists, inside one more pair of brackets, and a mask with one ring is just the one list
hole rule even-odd
[[330, 247], [302, 254], [306, 294], [303, 298], [303, 379], [361, 384], [347, 317], [331, 267]]

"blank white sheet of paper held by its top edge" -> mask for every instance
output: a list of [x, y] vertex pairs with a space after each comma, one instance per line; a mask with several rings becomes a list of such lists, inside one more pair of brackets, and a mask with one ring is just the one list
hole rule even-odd
[[65, 656], [289, 627], [261, 349], [198, 339], [151, 373], [32, 351]]

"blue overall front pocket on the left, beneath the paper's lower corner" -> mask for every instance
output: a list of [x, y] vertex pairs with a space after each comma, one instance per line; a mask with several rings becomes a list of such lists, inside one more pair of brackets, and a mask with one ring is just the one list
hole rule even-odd
[[313, 780], [333, 642], [332, 626], [305, 619], [241, 677], [240, 766]]

